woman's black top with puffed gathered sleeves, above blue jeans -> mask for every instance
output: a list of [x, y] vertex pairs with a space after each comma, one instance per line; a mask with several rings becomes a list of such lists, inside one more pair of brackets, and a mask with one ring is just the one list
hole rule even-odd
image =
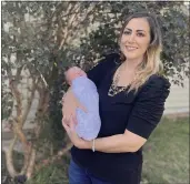
[[[148, 139], [160, 122], [170, 83], [163, 76], [153, 74], [138, 92], [122, 91], [109, 96], [113, 74], [121, 64], [119, 54], [107, 55], [88, 72], [99, 92], [101, 130], [98, 137], [130, 132]], [[127, 184], [128, 173], [136, 171], [142, 162], [142, 149], [136, 153], [103, 153], [91, 150], [71, 149], [72, 159], [88, 168], [94, 176], [114, 184]]]

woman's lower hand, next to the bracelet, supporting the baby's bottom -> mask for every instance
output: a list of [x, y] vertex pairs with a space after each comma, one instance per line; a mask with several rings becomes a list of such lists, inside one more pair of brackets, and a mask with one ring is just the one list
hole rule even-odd
[[68, 134], [68, 136], [70, 137], [72, 144], [78, 147], [78, 149], [90, 149], [91, 147], [91, 143], [90, 141], [84, 141], [82, 139], [80, 139], [78, 136], [78, 134], [76, 133], [76, 124], [73, 122], [73, 119], [70, 119], [70, 125], [68, 125], [63, 119], [62, 119], [62, 125]]

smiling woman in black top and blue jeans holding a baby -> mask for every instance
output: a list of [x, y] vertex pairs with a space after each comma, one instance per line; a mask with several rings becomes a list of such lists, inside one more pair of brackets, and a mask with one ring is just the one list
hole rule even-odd
[[[161, 31], [154, 16], [130, 16], [119, 38], [121, 55], [110, 54], [88, 72], [99, 92], [101, 130], [91, 142], [73, 131], [81, 108], [69, 90], [62, 124], [73, 143], [70, 184], [139, 184], [142, 145], [158, 125], [170, 83], [160, 73]], [[82, 109], [84, 109], [82, 106]]]

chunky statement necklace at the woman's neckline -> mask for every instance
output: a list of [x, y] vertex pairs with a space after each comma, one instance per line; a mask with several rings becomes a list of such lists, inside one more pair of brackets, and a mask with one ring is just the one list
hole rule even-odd
[[110, 89], [108, 91], [108, 95], [109, 96], [114, 96], [116, 94], [124, 91], [129, 85], [127, 86], [118, 86], [118, 81], [119, 81], [119, 78], [120, 78], [120, 70], [121, 70], [121, 67], [118, 69], [118, 73], [116, 75], [116, 79], [113, 79], [111, 85], [110, 85]]

